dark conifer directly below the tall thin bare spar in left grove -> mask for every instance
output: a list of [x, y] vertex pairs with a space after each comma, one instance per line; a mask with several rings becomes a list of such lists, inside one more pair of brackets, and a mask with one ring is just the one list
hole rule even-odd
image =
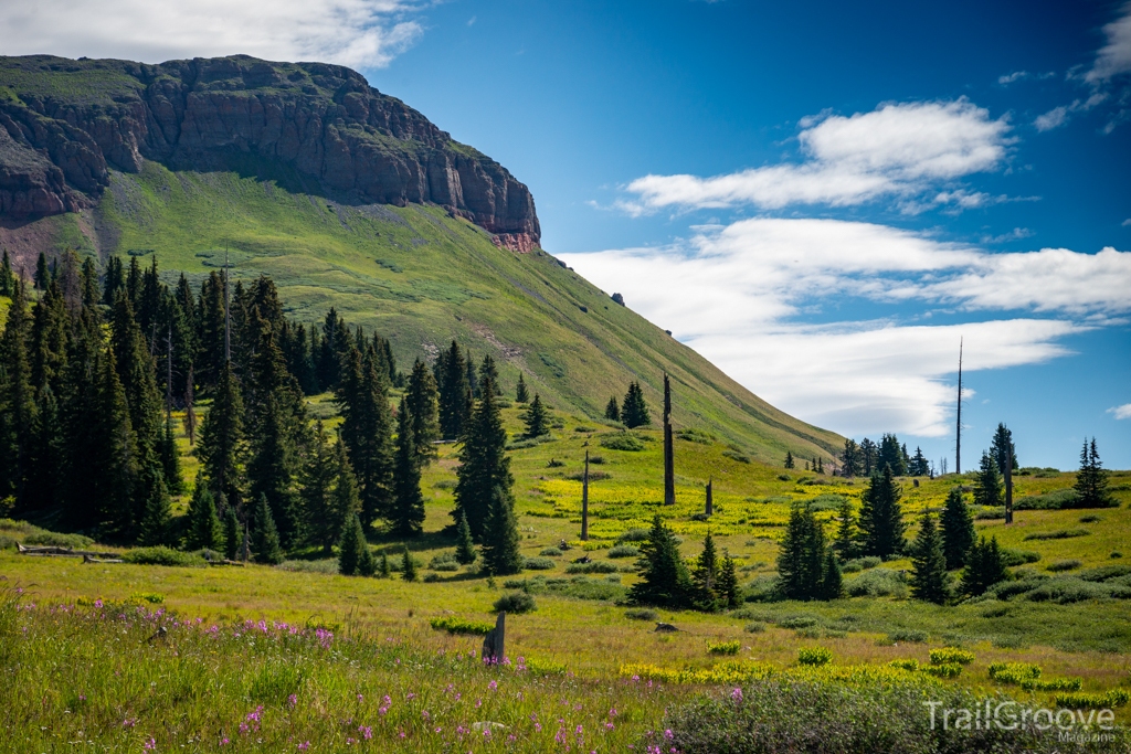
[[243, 399], [232, 365], [224, 364], [211, 408], [200, 427], [197, 454], [208, 485], [228, 505], [240, 503], [240, 457], [243, 450]]

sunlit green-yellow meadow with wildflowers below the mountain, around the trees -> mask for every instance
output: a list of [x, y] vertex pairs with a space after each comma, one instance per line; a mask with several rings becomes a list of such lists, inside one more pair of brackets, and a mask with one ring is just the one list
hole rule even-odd
[[[312, 414], [336, 421], [327, 396], [310, 400]], [[728, 703], [734, 688], [754, 705], [753, 690], [786, 682], [854, 694], [879, 687], [905, 700], [910, 693], [1008, 694], [1035, 705], [1110, 705], [1126, 723], [1121, 700], [1131, 688], [1131, 590], [1124, 582], [1131, 569], [1122, 566], [1122, 551], [1131, 531], [1131, 474], [1112, 474], [1119, 508], [1029, 510], [1057, 500], [1073, 475], [1026, 469], [1017, 477], [1021, 510], [1015, 523], [1005, 526], [999, 511], [976, 511], [979, 534], [996, 536], [1018, 557], [1018, 579], [1010, 583], [1029, 584], [1028, 591], [927, 605], [908, 599], [909, 561], [898, 560], [851, 565], [846, 590], [860, 596], [772, 601], [767, 584], [789, 506], [809, 501], [828, 527], [841, 496], [858, 505], [865, 480], [769, 466], [706, 432], [685, 432], [675, 441], [677, 503], [665, 508], [658, 431], [637, 430], [639, 442], [625, 443], [614, 425], [553, 411], [552, 434], [534, 442], [521, 436], [520, 407], [503, 415], [528, 557], [519, 577], [487, 579], [474, 564], [451, 570], [444, 557], [455, 544], [444, 532], [457, 465], [452, 444], [440, 447], [424, 475], [425, 535], [407, 543], [372, 539], [390, 556], [403, 544], [411, 548], [422, 574], [413, 583], [398, 573], [342, 577], [336, 561], [313, 551], [277, 567], [31, 557], [11, 545], [44, 541], [44, 535], [0, 522], [10, 624], [0, 635], [5, 661], [15, 668], [0, 692], [9, 734], [0, 751], [139, 751], [150, 739], [158, 751], [300, 751], [307, 740], [311, 751], [338, 751], [349, 739], [380, 751], [631, 751], [629, 745], [651, 745], [649, 731], [663, 736], [674, 725], [668, 718], [685, 729], [676, 727], [666, 743], [713, 751], [717, 742], [688, 733], [694, 728], [688, 709], [700, 709], [705, 699]], [[192, 478], [184, 437], [181, 448]], [[592, 536], [582, 543], [577, 477], [586, 451]], [[715, 511], [706, 519], [708, 479]], [[972, 479], [900, 479], [908, 521], [939, 509], [956, 484]], [[687, 557], [709, 529], [737, 558], [751, 601], [714, 615], [619, 604], [636, 578], [632, 530], [656, 512], [682, 539]], [[592, 563], [572, 562], [581, 556]], [[442, 618], [490, 622], [493, 603], [516, 590], [530, 593], [536, 609], [508, 616], [508, 666], [474, 660], [480, 635], [432, 626]], [[657, 621], [680, 631], [657, 633]], [[968, 661], [932, 662], [931, 651], [946, 647], [968, 651]], [[827, 651], [827, 665], [798, 665], [818, 650]], [[1037, 666], [1044, 683], [1022, 687], [1009, 674], [991, 675], [1001, 664]], [[34, 693], [20, 691], [28, 688]], [[492, 733], [485, 735], [477, 722], [506, 727], [486, 726]], [[946, 740], [936, 743], [940, 748], [907, 751], [946, 749]], [[707, 747], [697, 749], [700, 744]], [[1026, 746], [1042, 751], [1038, 744]], [[1094, 751], [1123, 751], [1106, 745]]]

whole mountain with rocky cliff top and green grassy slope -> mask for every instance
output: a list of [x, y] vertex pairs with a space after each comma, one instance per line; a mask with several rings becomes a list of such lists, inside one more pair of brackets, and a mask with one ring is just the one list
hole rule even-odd
[[[244, 55], [148, 66], [0, 58], [0, 245], [155, 254], [163, 275], [270, 275], [291, 317], [336, 306], [402, 364], [452, 338], [599, 418], [663, 373], [676, 427], [776, 463], [838, 435], [768, 405], [539, 246], [529, 190], [421, 113], [323, 63]], [[148, 259], [143, 260], [148, 263]], [[631, 305], [631, 302], [627, 302]]]

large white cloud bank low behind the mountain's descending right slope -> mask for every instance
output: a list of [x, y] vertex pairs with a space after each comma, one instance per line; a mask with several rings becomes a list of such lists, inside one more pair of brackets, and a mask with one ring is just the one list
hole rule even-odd
[[[988, 253], [867, 223], [754, 218], [673, 246], [562, 258], [762, 398], [852, 434], [943, 433], [959, 337], [972, 371], [1034, 364], [1068, 353], [1065, 336], [1131, 312], [1129, 252]], [[797, 323], [849, 298], [1015, 315]]]

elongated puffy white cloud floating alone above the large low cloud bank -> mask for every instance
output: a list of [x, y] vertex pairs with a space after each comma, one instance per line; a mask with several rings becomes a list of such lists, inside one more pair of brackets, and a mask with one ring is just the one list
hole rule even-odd
[[[1009, 146], [1009, 123], [967, 99], [886, 104], [851, 116], [803, 119], [804, 161], [727, 175], [646, 175], [628, 191], [630, 214], [663, 207], [794, 203], [860, 205], [882, 196], [910, 197], [932, 185], [993, 170]], [[947, 200], [947, 199], [944, 199]]]

